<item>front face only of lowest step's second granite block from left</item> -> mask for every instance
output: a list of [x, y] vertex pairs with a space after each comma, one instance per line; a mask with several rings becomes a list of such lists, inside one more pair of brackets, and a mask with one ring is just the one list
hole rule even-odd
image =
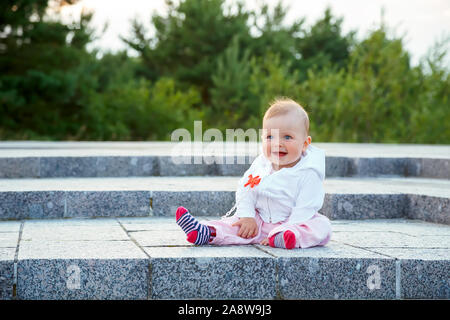
[[147, 259], [33, 259], [19, 261], [21, 300], [144, 300]]

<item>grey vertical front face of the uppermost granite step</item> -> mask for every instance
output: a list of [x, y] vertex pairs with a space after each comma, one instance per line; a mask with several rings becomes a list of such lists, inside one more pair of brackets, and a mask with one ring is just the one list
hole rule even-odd
[[[180, 157], [175, 158], [181, 161]], [[254, 157], [230, 157], [231, 163], [174, 164], [170, 156], [0, 157], [0, 178], [240, 176]], [[244, 159], [239, 164], [238, 160]], [[245, 160], [247, 159], [247, 160]], [[202, 160], [202, 159], [200, 159]], [[326, 158], [327, 177], [404, 176], [450, 179], [450, 159]]]

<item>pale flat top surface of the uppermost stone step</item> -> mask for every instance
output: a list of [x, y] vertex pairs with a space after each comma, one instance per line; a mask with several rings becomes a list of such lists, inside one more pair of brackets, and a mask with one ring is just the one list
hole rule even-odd
[[[171, 155], [178, 142], [164, 141], [1, 141], [0, 156], [87, 156], [95, 155]], [[225, 143], [223, 148], [230, 150]], [[232, 143], [236, 150], [258, 150], [254, 143]], [[396, 143], [328, 143], [313, 142], [327, 154], [335, 157], [360, 155], [362, 157], [426, 157], [450, 159], [449, 145], [396, 144]], [[205, 148], [210, 148], [204, 143]], [[234, 150], [231, 148], [231, 150]], [[219, 148], [220, 149], [220, 148]], [[50, 153], [55, 151], [54, 154]], [[56, 153], [58, 152], [58, 153]]]

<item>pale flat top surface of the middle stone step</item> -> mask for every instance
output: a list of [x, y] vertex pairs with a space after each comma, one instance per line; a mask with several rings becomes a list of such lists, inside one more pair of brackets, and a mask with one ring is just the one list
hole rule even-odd
[[[236, 191], [239, 177], [129, 177], [0, 179], [0, 192]], [[450, 198], [450, 181], [422, 178], [327, 178], [325, 191], [339, 194], [416, 194]]]

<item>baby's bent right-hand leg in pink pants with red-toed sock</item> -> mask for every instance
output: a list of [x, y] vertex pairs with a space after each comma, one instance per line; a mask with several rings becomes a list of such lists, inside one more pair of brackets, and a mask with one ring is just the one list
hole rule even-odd
[[[294, 240], [295, 239], [295, 244]], [[269, 244], [281, 248], [324, 246], [331, 238], [330, 220], [316, 213], [311, 219], [296, 225], [281, 225], [269, 233]], [[284, 240], [284, 243], [282, 242]], [[284, 244], [284, 246], [283, 246]]]

